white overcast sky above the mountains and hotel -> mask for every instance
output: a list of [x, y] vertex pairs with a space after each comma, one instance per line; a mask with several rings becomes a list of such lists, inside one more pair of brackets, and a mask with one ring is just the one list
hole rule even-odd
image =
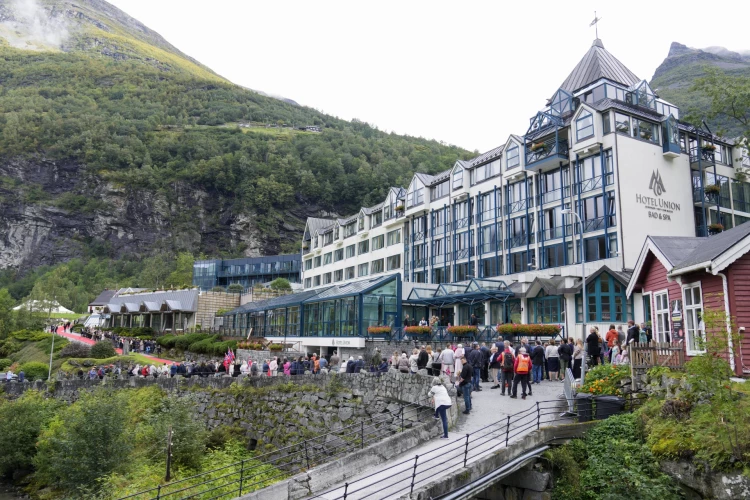
[[672, 41], [750, 49], [750, 2], [109, 0], [234, 83], [480, 152], [595, 38], [650, 80]]

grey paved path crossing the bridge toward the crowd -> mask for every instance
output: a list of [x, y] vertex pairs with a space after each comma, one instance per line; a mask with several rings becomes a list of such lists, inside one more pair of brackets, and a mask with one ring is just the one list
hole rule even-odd
[[[505, 424], [509, 415], [528, 412], [528, 417], [511, 424], [511, 442], [536, 429], [537, 402], [548, 402], [541, 405], [546, 408], [542, 410], [542, 421], [559, 419], [560, 411], [552, 408], [556, 406], [556, 401], [563, 392], [562, 382], [544, 381], [534, 385], [533, 396], [525, 400], [521, 399], [520, 387], [518, 399], [511, 399], [507, 395], [501, 396], [499, 389], [490, 390], [490, 385], [489, 383], [482, 384], [481, 392], [472, 393], [471, 414], [462, 415], [464, 418], [457, 428], [449, 433], [448, 440], [436, 437], [409, 450], [398, 459], [378, 465], [375, 470], [349, 478], [346, 499], [381, 500], [408, 494], [414, 474], [415, 455], [419, 455], [417, 474], [414, 477], [415, 490], [451, 470], [463, 467], [466, 434], [475, 433], [469, 437], [467, 463], [479, 460], [482, 456], [505, 446]], [[544, 415], [544, 413], [547, 414]], [[514, 431], [516, 427], [520, 428]], [[355, 483], [358, 480], [362, 481]], [[325, 494], [310, 498], [341, 499], [344, 497], [344, 489], [344, 484], [340, 484]]]

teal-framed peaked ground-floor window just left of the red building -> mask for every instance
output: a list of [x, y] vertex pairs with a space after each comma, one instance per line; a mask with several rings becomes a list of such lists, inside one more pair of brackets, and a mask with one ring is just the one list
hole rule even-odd
[[[625, 295], [625, 286], [607, 273], [602, 273], [592, 282], [586, 282], [588, 323], [624, 323], [633, 318], [631, 302]], [[576, 321], [583, 318], [581, 294], [576, 295]]]

